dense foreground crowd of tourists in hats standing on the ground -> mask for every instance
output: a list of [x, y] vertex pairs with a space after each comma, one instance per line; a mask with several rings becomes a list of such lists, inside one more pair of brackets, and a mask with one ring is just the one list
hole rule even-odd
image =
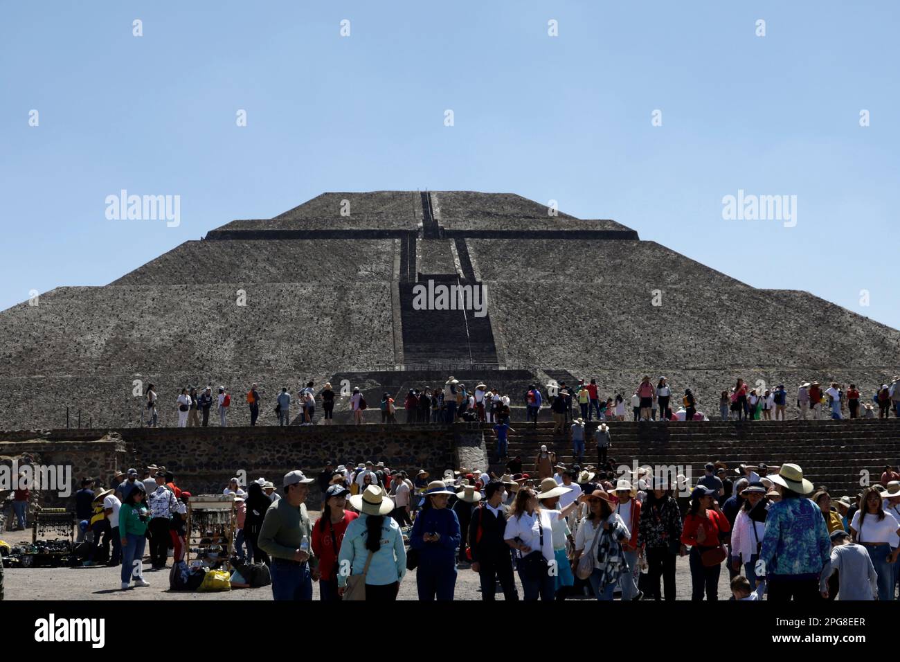
[[[900, 579], [900, 473], [833, 497], [801, 467], [708, 462], [685, 476], [617, 473], [613, 460], [566, 467], [542, 447], [500, 476], [447, 469], [435, 479], [383, 461], [288, 472], [276, 485], [234, 477], [233, 558], [264, 563], [276, 600], [394, 600], [416, 569], [419, 600], [453, 600], [459, 572], [479, 576], [482, 600], [674, 600], [688, 557], [693, 600], [893, 600]], [[191, 497], [163, 466], [85, 479], [75, 495], [85, 565], [121, 567], [121, 588], [184, 558]], [[313, 484], [316, 484], [315, 487]], [[307, 509], [312, 489], [318, 516]]]

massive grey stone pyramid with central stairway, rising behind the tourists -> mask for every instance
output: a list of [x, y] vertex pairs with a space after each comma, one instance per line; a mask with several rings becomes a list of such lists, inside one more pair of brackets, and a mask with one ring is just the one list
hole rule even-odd
[[[664, 374], [715, 412], [738, 376], [789, 390], [853, 381], [866, 394], [893, 374], [894, 329], [748, 286], [618, 222], [549, 211], [512, 194], [325, 193], [228, 222], [107, 286], [58, 287], [0, 313], [0, 429], [63, 427], [66, 406], [137, 425], [149, 383], [174, 424], [185, 385], [237, 396], [257, 382], [274, 407], [282, 386], [309, 379], [380, 395], [406, 383], [392, 374], [431, 384], [515, 370], [596, 377], [627, 398], [644, 374]], [[414, 305], [440, 286], [463, 305]], [[466, 308], [476, 293], [485, 314]], [[261, 424], [275, 423], [271, 409]]]

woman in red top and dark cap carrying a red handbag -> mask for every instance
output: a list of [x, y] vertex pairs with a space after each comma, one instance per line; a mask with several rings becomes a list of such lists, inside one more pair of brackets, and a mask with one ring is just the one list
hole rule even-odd
[[715, 494], [714, 490], [703, 485], [694, 488], [681, 531], [681, 542], [690, 546], [691, 600], [703, 600], [704, 593], [707, 600], [719, 599], [719, 573], [722, 571], [722, 561], [727, 557], [719, 537], [731, 531], [731, 524], [719, 510]]

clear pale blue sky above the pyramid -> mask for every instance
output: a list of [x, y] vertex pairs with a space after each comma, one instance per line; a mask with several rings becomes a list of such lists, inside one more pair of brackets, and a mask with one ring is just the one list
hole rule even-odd
[[[898, 24], [865, 0], [7, 1], [0, 309], [323, 191], [428, 187], [555, 199], [900, 328]], [[122, 188], [180, 195], [180, 227], [108, 221]], [[742, 188], [797, 195], [797, 227], [723, 220]]]

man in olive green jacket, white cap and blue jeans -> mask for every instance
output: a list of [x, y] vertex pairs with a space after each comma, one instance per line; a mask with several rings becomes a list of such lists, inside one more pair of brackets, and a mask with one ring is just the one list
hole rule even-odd
[[269, 506], [259, 531], [259, 547], [272, 557], [275, 600], [312, 600], [312, 575], [319, 561], [312, 556], [312, 522], [303, 502], [314, 480], [299, 470], [286, 474], [284, 498]]

